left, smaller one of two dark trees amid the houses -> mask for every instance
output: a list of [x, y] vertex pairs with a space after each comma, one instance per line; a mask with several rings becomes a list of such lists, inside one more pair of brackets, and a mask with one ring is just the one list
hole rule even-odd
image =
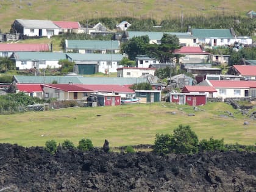
[[145, 54], [146, 44], [149, 44], [148, 35], [133, 37], [127, 43], [122, 44], [121, 51], [128, 54], [130, 60], [135, 60], [137, 55]]

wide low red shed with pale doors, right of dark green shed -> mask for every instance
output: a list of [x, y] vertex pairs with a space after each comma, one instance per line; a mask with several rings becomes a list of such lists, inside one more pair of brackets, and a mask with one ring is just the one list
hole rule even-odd
[[191, 106], [205, 105], [207, 96], [204, 93], [169, 93], [169, 102]]

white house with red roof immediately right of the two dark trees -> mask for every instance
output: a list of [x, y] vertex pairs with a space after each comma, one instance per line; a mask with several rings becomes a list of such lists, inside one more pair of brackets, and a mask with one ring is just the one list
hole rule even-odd
[[208, 63], [212, 55], [203, 51], [200, 46], [183, 46], [174, 53], [184, 55], [180, 57], [180, 63]]

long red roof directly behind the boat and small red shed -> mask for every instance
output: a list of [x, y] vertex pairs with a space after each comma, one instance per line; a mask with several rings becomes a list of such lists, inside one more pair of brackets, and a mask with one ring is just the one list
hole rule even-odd
[[135, 93], [127, 86], [122, 85], [77, 85], [79, 87], [87, 88], [95, 92], [116, 92], [116, 93]]

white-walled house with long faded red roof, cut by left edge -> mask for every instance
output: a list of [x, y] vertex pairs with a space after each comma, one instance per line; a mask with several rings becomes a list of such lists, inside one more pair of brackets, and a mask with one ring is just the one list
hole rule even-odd
[[45, 43], [36, 44], [36, 43], [1, 43], [0, 44], [0, 57], [10, 57], [13, 52], [49, 52], [49, 45]]

